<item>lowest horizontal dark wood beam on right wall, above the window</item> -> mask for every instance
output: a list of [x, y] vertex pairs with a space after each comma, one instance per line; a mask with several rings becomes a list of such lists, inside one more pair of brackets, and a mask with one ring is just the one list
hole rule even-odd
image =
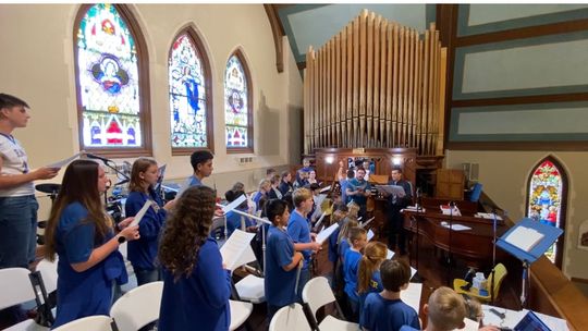
[[585, 151], [588, 142], [449, 142], [450, 150], [553, 150]]

